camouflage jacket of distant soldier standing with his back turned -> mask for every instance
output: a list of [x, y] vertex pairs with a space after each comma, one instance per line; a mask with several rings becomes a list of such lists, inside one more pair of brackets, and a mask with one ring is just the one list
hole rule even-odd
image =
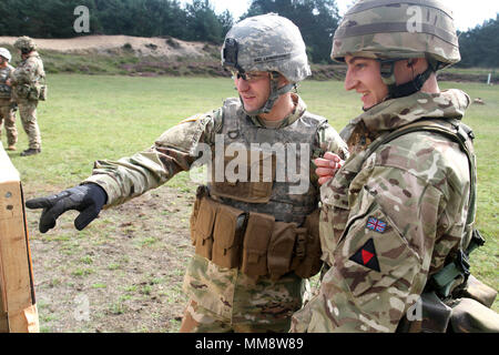
[[12, 95], [14, 100], [30, 99], [30, 90], [40, 85], [45, 78], [43, 62], [38, 52], [31, 52], [11, 73]]

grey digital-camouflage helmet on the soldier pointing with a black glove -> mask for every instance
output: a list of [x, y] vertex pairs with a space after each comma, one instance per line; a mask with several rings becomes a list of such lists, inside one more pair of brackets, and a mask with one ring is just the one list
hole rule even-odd
[[276, 71], [291, 82], [310, 75], [299, 29], [275, 13], [236, 23], [225, 36], [222, 65], [240, 72]]

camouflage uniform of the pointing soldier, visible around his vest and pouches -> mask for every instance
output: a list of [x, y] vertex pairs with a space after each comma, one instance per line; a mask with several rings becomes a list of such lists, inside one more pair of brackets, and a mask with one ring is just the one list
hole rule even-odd
[[[226, 100], [223, 108], [187, 119], [163, 133], [154, 146], [145, 152], [124, 158], [118, 162], [98, 161], [93, 175], [85, 182], [102, 186], [108, 193], [106, 206], [123, 203], [147, 190], [160, 186], [180, 171], [187, 171], [194, 162], [194, 152], [200, 143], [213, 146], [215, 134], [227, 132], [234, 123], [245, 121], [240, 136], [248, 136], [258, 131], [287, 132], [296, 139], [308, 135], [301, 134], [304, 126], [313, 124], [310, 153], [316, 156], [325, 151], [347, 154], [346, 145], [337, 132], [325, 119], [314, 116], [306, 111], [305, 103], [294, 95], [295, 111], [284, 120], [277, 130], [264, 128], [257, 116], [247, 116], [238, 99]], [[272, 133], [271, 133], [272, 134]], [[225, 138], [228, 134], [224, 133]], [[262, 139], [259, 139], [262, 141]], [[253, 141], [252, 143], [257, 143]], [[312, 156], [310, 156], [312, 158]], [[312, 160], [310, 160], [312, 164]], [[310, 166], [310, 172], [314, 168]], [[315, 175], [315, 174], [314, 174]], [[288, 184], [285, 184], [287, 186]], [[284, 186], [284, 187], [285, 187]], [[292, 212], [283, 213], [279, 199], [287, 197], [287, 191], [278, 183], [274, 184], [269, 204], [244, 204], [224, 199], [224, 203], [245, 211], [272, 213], [276, 221], [296, 220], [302, 223], [304, 215], [295, 216]], [[309, 191], [304, 196], [295, 196], [298, 201], [308, 199], [308, 209], [317, 206], [318, 186], [316, 176], [312, 176]], [[305, 204], [305, 203], [304, 203]], [[268, 210], [273, 205], [274, 210]], [[301, 211], [296, 206], [295, 212]], [[305, 210], [304, 207], [302, 207]], [[310, 211], [301, 211], [302, 214]], [[185, 332], [287, 332], [291, 315], [302, 306], [305, 285], [294, 273], [284, 275], [277, 281], [259, 277], [255, 281], [237, 267], [221, 267], [207, 258], [194, 255], [184, 280], [184, 291], [190, 296], [186, 314], [181, 331]]]

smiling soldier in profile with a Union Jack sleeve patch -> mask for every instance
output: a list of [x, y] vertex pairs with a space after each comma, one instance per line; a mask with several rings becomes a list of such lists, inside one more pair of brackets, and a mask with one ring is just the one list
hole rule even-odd
[[436, 78], [460, 60], [458, 38], [442, 2], [415, 4], [357, 1], [335, 32], [332, 58], [365, 112], [342, 131], [350, 156], [320, 189], [327, 272], [292, 332], [499, 329], [495, 290], [469, 275], [483, 242], [472, 132], [460, 122], [470, 99]]

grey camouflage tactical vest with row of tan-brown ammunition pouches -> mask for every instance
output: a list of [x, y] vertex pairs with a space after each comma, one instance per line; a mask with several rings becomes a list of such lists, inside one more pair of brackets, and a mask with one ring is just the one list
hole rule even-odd
[[[230, 166], [235, 156], [224, 155], [227, 148], [244, 146], [247, 171], [240, 178], [246, 179], [232, 181], [223, 175], [218, 180], [213, 172], [207, 189], [198, 190], [191, 217], [196, 253], [218, 266], [240, 267], [252, 277], [277, 280], [292, 271], [304, 278], [315, 275], [322, 266], [318, 187], [310, 183], [308, 171], [304, 193], [291, 194], [293, 183], [276, 170], [287, 172], [289, 163], [299, 166], [302, 159], [309, 169], [317, 130], [326, 120], [305, 112], [285, 128], [265, 129], [252, 122], [238, 99], [226, 100], [222, 112], [224, 145], [218, 149], [223, 152], [221, 156], [215, 142], [212, 170], [220, 163]], [[285, 159], [273, 154], [275, 143], [284, 148]]]

